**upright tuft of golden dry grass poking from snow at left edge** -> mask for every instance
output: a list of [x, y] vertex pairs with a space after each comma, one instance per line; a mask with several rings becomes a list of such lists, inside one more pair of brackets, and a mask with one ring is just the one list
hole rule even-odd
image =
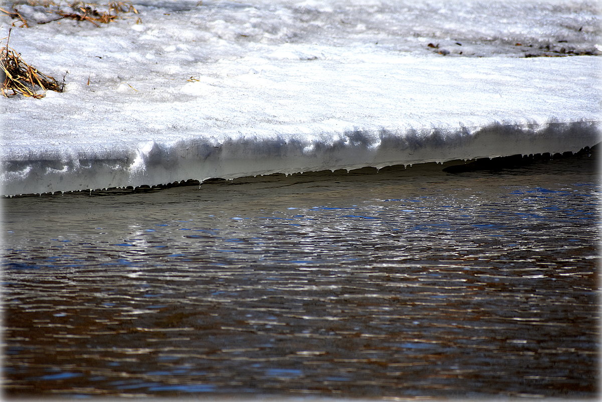
[[[10, 37], [10, 32], [8, 36]], [[64, 82], [59, 83], [21, 60], [20, 54], [8, 46], [8, 38], [0, 52], [0, 69], [4, 75], [1, 90], [5, 97], [20, 94], [40, 99], [45, 96], [45, 93], [38, 93], [39, 89], [44, 92], [47, 90], [63, 92]]]

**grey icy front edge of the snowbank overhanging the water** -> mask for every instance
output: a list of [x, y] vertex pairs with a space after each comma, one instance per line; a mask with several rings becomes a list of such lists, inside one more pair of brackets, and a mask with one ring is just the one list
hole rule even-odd
[[188, 137], [104, 147], [2, 150], [3, 195], [157, 186], [185, 180], [383, 168], [509, 155], [577, 152], [602, 142], [599, 121], [494, 122], [477, 128], [349, 130], [315, 136]]

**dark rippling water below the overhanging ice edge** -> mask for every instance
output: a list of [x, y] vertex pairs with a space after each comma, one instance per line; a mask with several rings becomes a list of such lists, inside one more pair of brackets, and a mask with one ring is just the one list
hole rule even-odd
[[7, 395], [594, 397], [595, 157], [442, 168], [5, 199]]

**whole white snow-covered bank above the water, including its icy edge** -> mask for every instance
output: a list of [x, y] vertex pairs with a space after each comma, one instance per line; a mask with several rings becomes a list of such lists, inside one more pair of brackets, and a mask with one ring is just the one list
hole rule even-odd
[[[600, 142], [595, 2], [134, 5], [138, 14], [101, 27], [63, 19], [13, 28], [10, 46], [24, 61], [55, 78], [69, 73], [63, 93], [2, 99], [2, 193]], [[39, 7], [19, 7], [48, 20]], [[0, 18], [4, 33], [12, 22]], [[581, 55], [524, 57], [566, 54]]]

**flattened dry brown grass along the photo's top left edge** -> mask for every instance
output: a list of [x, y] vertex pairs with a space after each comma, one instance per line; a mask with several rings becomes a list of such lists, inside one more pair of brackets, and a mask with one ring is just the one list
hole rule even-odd
[[[43, 7], [47, 13], [57, 17], [43, 22], [32, 22], [23, 16], [22, 10], [19, 10], [19, 7], [22, 5]], [[16, 26], [15, 24], [19, 23], [19, 27], [29, 27], [31, 24], [48, 24], [48, 22], [54, 22], [65, 18], [76, 21], [88, 21], [93, 25], [96, 25], [96, 27], [99, 27], [99, 24], [108, 24], [113, 21], [119, 14], [138, 14], [138, 10], [136, 10], [134, 5], [129, 1], [110, 1], [105, 5], [99, 5], [83, 1], [63, 4], [52, 0], [26, 0], [25, 2], [15, 2], [12, 8], [8, 10], [0, 8], [0, 13], [4, 13], [12, 19], [16, 19], [16, 21], [13, 22], [13, 27]]]

